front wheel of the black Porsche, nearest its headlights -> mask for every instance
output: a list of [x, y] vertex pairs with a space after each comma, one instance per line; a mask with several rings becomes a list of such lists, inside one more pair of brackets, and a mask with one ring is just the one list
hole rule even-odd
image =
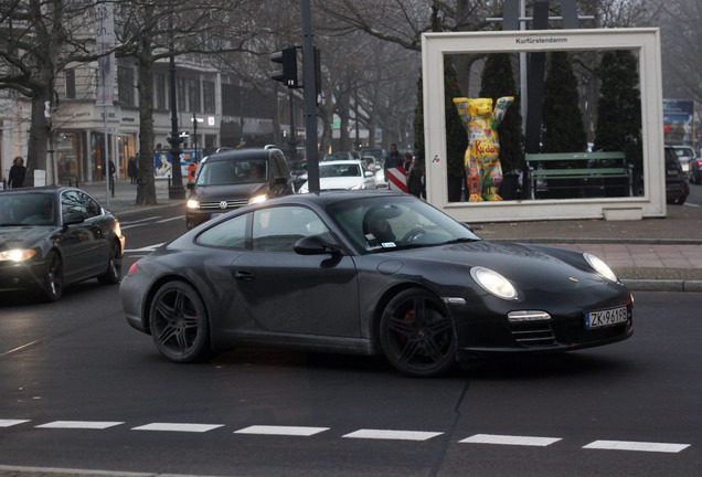
[[380, 342], [387, 361], [415, 378], [445, 374], [456, 363], [456, 337], [444, 304], [432, 293], [410, 288], [385, 307]]

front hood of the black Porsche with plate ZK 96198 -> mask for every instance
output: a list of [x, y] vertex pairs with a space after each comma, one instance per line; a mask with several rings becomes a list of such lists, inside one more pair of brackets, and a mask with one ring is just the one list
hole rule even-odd
[[407, 261], [443, 262], [447, 266], [490, 268], [521, 289], [561, 292], [606, 283], [583, 258], [582, 252], [544, 245], [476, 241], [411, 248], [387, 255], [406, 257]]

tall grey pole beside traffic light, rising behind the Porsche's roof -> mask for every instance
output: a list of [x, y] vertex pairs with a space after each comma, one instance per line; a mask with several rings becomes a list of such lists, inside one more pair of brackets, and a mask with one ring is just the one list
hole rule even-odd
[[302, 85], [305, 87], [305, 151], [310, 192], [319, 192], [319, 158], [317, 157], [317, 88], [315, 80], [315, 43], [310, 0], [300, 0], [302, 17]]

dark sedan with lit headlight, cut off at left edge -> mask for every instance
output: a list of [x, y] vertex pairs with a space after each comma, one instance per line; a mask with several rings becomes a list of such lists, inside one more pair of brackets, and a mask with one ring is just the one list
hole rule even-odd
[[70, 283], [119, 283], [124, 248], [117, 219], [79, 189], [0, 191], [0, 292], [38, 289], [54, 301]]

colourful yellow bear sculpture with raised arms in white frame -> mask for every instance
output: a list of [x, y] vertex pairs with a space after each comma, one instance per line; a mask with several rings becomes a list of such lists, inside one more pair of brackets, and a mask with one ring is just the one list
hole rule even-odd
[[492, 109], [491, 98], [454, 98], [468, 132], [468, 149], [464, 160], [470, 202], [502, 200], [498, 195], [502, 183], [502, 167], [497, 129], [513, 100], [513, 96], [501, 97]]

